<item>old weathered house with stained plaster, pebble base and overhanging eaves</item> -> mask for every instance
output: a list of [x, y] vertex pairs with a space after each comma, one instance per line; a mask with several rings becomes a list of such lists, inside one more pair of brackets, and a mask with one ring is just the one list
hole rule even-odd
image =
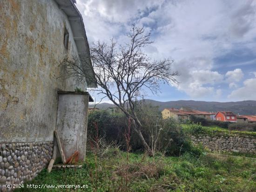
[[[54, 130], [66, 157], [78, 150], [79, 159], [85, 158], [92, 101], [87, 88], [96, 81], [58, 78], [65, 76], [59, 66], [65, 57], [90, 54], [72, 0], [1, 0], [0, 34], [0, 169], [6, 170], [0, 191], [6, 191], [6, 182], [23, 183], [47, 165]], [[90, 60], [81, 65], [91, 65]], [[75, 87], [83, 92], [74, 92]]]

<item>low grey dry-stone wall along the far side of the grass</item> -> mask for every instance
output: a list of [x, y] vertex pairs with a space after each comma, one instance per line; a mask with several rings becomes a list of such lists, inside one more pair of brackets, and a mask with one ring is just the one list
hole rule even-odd
[[190, 135], [194, 144], [201, 143], [211, 151], [218, 152], [241, 152], [256, 154], [256, 138], [246, 135]]

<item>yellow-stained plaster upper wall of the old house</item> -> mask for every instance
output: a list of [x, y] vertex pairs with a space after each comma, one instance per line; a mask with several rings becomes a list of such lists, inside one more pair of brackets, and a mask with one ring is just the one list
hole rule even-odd
[[57, 90], [75, 88], [56, 79], [65, 55], [78, 54], [67, 15], [54, 0], [0, 0], [0, 34], [0, 141], [53, 140]]

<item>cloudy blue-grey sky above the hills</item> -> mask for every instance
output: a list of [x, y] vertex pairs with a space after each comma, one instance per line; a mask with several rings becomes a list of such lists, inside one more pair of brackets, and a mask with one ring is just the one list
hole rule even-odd
[[[89, 43], [144, 26], [154, 59], [175, 60], [178, 86], [148, 99], [256, 100], [256, 0], [77, 0]], [[98, 99], [98, 97], [97, 97]]]

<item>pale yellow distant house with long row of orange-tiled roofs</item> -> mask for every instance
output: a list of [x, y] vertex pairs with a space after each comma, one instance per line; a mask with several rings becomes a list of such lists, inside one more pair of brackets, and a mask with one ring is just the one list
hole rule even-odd
[[194, 109], [191, 109], [190, 107], [182, 107], [180, 109], [170, 108], [170, 109], [164, 109], [162, 111], [163, 119], [173, 118], [176, 120], [180, 120], [180, 119], [188, 120], [190, 115], [194, 115], [195, 117], [211, 119], [212, 113], [194, 110]]

